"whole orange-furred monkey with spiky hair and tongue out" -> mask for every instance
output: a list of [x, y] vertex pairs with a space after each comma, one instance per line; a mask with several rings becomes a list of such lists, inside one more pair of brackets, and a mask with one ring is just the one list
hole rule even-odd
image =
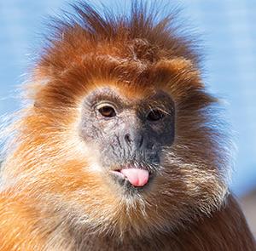
[[1, 250], [256, 250], [193, 36], [143, 1], [73, 9], [4, 128]]

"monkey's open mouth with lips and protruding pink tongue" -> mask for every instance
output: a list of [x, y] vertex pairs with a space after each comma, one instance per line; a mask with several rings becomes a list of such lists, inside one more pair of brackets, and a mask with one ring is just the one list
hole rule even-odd
[[143, 188], [148, 185], [152, 174], [146, 168], [120, 168], [110, 171], [114, 180], [118, 181], [119, 185], [127, 187]]

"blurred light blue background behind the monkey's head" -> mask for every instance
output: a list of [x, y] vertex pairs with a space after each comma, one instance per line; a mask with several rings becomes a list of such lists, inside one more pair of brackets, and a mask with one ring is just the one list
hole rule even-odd
[[[102, 2], [113, 5], [113, 1]], [[256, 2], [162, 2], [181, 6], [185, 23], [203, 34], [204, 80], [213, 94], [227, 101], [226, 116], [238, 146], [231, 188], [243, 196], [256, 187]], [[0, 115], [19, 107], [15, 86], [25, 79], [21, 75], [42, 45], [45, 16], [60, 9], [68, 9], [67, 1], [0, 0]]]

